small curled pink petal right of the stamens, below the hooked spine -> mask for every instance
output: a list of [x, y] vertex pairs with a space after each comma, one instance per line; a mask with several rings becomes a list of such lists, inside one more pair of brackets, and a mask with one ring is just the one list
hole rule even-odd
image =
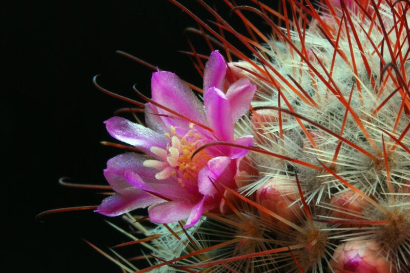
[[[218, 192], [215, 189], [215, 186], [218, 186], [218, 179], [222, 176], [224, 178], [227, 176], [228, 179], [233, 179], [233, 175], [230, 178], [229, 174], [231, 174], [229, 170], [229, 165], [231, 163], [231, 159], [226, 156], [218, 156], [212, 158], [208, 161], [208, 164], [199, 171], [198, 174], [198, 190], [203, 195], [210, 195], [213, 196]], [[228, 170], [227, 170], [228, 169]], [[225, 181], [224, 181], [225, 182]]]

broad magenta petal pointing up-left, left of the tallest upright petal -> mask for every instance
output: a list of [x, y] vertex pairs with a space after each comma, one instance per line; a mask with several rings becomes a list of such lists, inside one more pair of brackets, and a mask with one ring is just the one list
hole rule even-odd
[[[155, 72], [151, 79], [152, 99], [163, 106], [178, 112], [188, 118], [206, 124], [206, 116], [202, 103], [185, 82], [177, 75], [167, 71]], [[170, 112], [158, 109], [162, 114], [172, 115]], [[163, 118], [168, 119], [170, 118]], [[180, 118], [173, 118], [180, 122], [187, 122]]]

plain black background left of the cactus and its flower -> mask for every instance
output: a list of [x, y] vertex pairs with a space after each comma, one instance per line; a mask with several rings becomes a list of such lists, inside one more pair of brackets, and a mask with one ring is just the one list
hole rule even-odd
[[[202, 18], [212, 17], [184, 1]], [[230, 17], [222, 1], [219, 11]], [[137, 99], [132, 85], [149, 94], [152, 71], [115, 53], [123, 50], [201, 87], [183, 34], [193, 19], [165, 0], [1, 2], [2, 78], [2, 272], [120, 272], [81, 238], [107, 251], [128, 241], [91, 211], [60, 213], [41, 221], [47, 209], [97, 205], [97, 191], [58, 185], [106, 184], [106, 161], [121, 153], [103, 121], [129, 104], [98, 92], [100, 85]], [[232, 16], [234, 17], [234, 16]], [[238, 20], [233, 25], [241, 28]], [[236, 23], [235, 23], [236, 22]], [[192, 37], [200, 53], [203, 39]], [[197, 37], [197, 38], [195, 38]], [[129, 116], [131, 119], [132, 117]], [[107, 218], [106, 218], [107, 219]], [[114, 222], [121, 224], [120, 219]], [[126, 227], [126, 225], [123, 225]], [[135, 249], [135, 248], [134, 248]], [[140, 255], [138, 251], [132, 255]]]

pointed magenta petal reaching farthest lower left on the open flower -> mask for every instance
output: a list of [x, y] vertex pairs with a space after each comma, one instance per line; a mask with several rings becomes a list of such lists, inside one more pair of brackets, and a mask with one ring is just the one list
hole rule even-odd
[[107, 197], [94, 212], [106, 216], [117, 216], [161, 202], [164, 202], [164, 200], [134, 188], [127, 193]]

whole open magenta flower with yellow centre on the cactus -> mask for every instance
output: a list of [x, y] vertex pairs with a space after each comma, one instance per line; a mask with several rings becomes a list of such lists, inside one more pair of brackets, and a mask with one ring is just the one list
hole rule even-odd
[[[203, 212], [219, 212], [221, 197], [214, 185], [222, 188], [222, 183], [236, 188], [234, 178], [239, 161], [248, 151], [215, 146], [200, 151], [194, 158], [191, 155], [200, 146], [214, 141], [251, 146], [252, 136], [234, 138], [234, 124], [248, 111], [256, 91], [249, 79], [241, 78], [224, 93], [226, 72], [222, 55], [212, 52], [203, 77], [204, 107], [177, 75], [153, 73], [153, 101], [197, 125], [151, 103], [146, 104], [149, 128], [121, 117], [106, 121], [111, 136], [150, 157], [127, 153], [107, 162], [104, 175], [116, 194], [103, 200], [96, 212], [116, 216], [150, 206], [152, 221], [170, 223], [187, 219], [186, 227], [194, 225]], [[217, 183], [213, 184], [214, 181]]]

